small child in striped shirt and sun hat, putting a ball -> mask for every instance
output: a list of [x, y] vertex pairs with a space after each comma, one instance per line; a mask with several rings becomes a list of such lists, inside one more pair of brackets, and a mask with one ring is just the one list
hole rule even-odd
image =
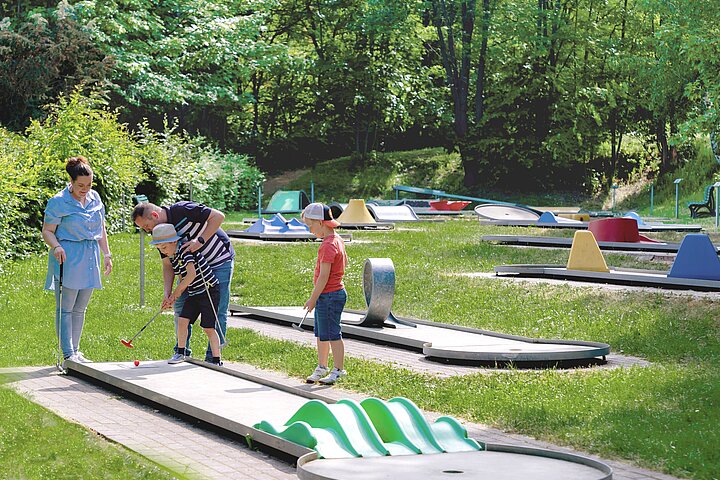
[[195, 323], [200, 316], [200, 326], [208, 337], [212, 350], [212, 361], [222, 365], [220, 361], [220, 338], [215, 330], [217, 323], [217, 305], [220, 300], [220, 283], [200, 252], [191, 253], [180, 248], [180, 236], [175, 227], [169, 223], [160, 223], [153, 228], [151, 245], [155, 245], [160, 253], [166, 255], [172, 264], [173, 273], [180, 277], [180, 282], [170, 297], [162, 304], [163, 309], [172, 308], [175, 300], [187, 289], [188, 299], [180, 312], [177, 326], [178, 351], [168, 363], [185, 361], [185, 345], [188, 325]]

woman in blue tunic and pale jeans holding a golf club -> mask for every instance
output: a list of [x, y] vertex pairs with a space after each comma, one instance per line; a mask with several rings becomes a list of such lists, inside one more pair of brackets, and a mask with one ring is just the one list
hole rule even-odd
[[85, 311], [93, 289], [102, 288], [100, 250], [105, 275], [112, 271], [112, 255], [105, 230], [105, 206], [92, 189], [90, 164], [85, 157], [71, 157], [65, 170], [70, 184], [45, 208], [42, 235], [51, 248], [45, 290], [55, 290], [58, 304], [60, 289], [55, 284], [63, 264], [62, 305], [55, 315], [55, 330], [65, 360], [87, 363], [90, 360], [79, 350]]

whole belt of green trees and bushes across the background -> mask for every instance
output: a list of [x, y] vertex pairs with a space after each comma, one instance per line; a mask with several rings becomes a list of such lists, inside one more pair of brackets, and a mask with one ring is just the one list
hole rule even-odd
[[264, 174], [421, 147], [457, 193], [593, 193], [695, 158], [719, 102], [708, 0], [0, 1], [0, 257], [42, 247], [73, 154], [113, 228], [133, 193], [254, 208]]

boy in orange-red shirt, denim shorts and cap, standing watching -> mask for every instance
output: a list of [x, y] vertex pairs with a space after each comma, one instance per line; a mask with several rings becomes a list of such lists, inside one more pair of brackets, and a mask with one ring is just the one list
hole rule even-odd
[[[302, 213], [303, 222], [310, 233], [322, 239], [315, 264], [312, 294], [305, 308], [315, 310], [315, 339], [318, 349], [318, 366], [307, 377], [307, 383], [320, 382], [331, 385], [347, 375], [343, 370], [345, 344], [340, 332], [340, 317], [347, 302], [347, 292], [343, 284], [343, 275], [347, 266], [345, 243], [335, 228], [340, 225], [333, 219], [327, 205], [311, 203]], [[328, 369], [330, 350], [333, 354], [333, 369]]]

